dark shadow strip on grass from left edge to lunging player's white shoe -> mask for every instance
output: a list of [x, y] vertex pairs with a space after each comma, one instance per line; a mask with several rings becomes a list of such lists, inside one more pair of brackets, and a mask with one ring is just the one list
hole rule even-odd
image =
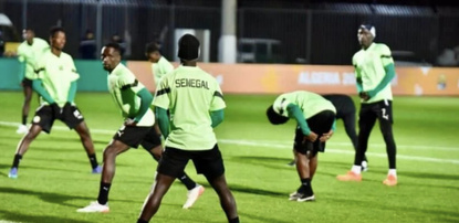
[[[60, 193], [50, 193], [50, 192], [41, 192], [41, 191], [30, 191], [24, 189], [17, 189], [17, 188], [6, 188], [0, 187], [0, 193], [15, 193], [20, 195], [34, 195], [39, 198], [40, 200], [49, 203], [55, 203], [60, 205], [71, 206], [71, 208], [82, 208], [80, 205], [74, 204], [67, 204], [66, 201], [70, 200], [87, 200], [93, 201], [95, 200], [95, 197], [82, 197], [82, 195], [69, 195], [69, 194], [60, 194]], [[119, 200], [119, 199], [111, 199], [111, 201], [123, 201], [123, 202], [135, 202], [133, 200]]]

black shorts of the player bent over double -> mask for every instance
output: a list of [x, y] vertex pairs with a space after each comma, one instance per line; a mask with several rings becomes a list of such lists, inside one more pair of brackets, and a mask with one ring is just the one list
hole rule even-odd
[[321, 138], [323, 134], [326, 134], [330, 131], [330, 129], [332, 129], [334, 120], [335, 113], [333, 113], [332, 110], [321, 112], [312, 116], [311, 118], [306, 119], [307, 126], [310, 127], [311, 131], [314, 131], [317, 135], [317, 140], [315, 140], [314, 142], [306, 140], [303, 144], [304, 135], [301, 128], [298, 126], [293, 148], [302, 155], [306, 155], [307, 151], [311, 151], [313, 157], [317, 152], [324, 152], [325, 142], [321, 142], [319, 138]]

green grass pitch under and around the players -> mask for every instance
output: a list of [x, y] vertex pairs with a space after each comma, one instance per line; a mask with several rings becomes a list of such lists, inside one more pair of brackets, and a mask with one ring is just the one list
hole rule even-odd
[[[312, 182], [315, 202], [292, 202], [299, 185], [292, 158], [294, 121], [268, 123], [264, 112], [277, 95], [226, 95], [225, 121], [216, 129], [241, 222], [459, 222], [459, 98], [401, 97], [394, 100], [399, 184], [385, 187], [385, 146], [377, 126], [367, 157], [369, 171], [362, 182], [340, 182], [354, 151], [342, 121], [319, 156]], [[358, 108], [357, 98], [354, 98]], [[100, 176], [76, 132], [58, 121], [51, 135], [41, 134], [21, 161], [19, 178], [8, 178], [23, 96], [0, 92], [0, 222], [126, 223], [136, 222], [150, 190], [157, 163], [143, 149], [117, 158], [109, 194], [111, 212], [82, 214], [76, 209], [97, 197]], [[97, 159], [123, 119], [108, 93], [79, 93], [76, 103], [91, 129]], [[33, 97], [31, 115], [38, 107]], [[206, 187], [190, 210], [182, 210], [186, 189], [176, 181], [152, 222], [226, 222], [218, 197], [192, 163], [187, 172]]]

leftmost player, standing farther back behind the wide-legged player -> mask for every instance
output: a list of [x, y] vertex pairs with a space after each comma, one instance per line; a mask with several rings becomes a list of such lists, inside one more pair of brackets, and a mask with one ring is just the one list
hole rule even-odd
[[22, 104], [22, 123], [19, 125], [18, 134], [27, 134], [29, 128], [27, 127], [27, 119], [29, 116], [30, 100], [32, 99], [32, 79], [35, 76], [35, 64], [41, 59], [43, 53], [50, 50], [50, 45], [46, 41], [40, 38], [35, 38], [35, 33], [32, 29], [28, 28], [22, 31], [24, 42], [18, 46], [18, 60], [21, 62], [20, 79], [21, 86], [24, 93], [24, 103]]

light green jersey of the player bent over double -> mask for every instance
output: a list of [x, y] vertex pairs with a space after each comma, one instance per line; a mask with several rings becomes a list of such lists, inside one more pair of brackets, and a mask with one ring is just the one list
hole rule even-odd
[[289, 113], [286, 110], [286, 106], [289, 104], [298, 105], [303, 112], [305, 119], [309, 119], [324, 110], [332, 110], [336, 114], [336, 109], [330, 100], [312, 92], [296, 91], [280, 95], [274, 100], [274, 112], [281, 116], [289, 117]]

